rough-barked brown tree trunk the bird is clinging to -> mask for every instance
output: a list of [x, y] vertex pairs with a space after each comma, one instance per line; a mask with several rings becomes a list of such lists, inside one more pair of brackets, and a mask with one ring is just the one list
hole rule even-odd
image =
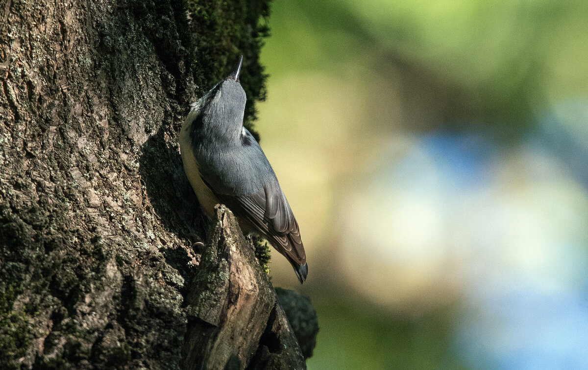
[[[211, 223], [183, 173], [178, 132], [189, 103], [239, 52], [254, 115], [266, 2], [3, 1], [0, 368], [212, 368], [211, 342], [195, 338], [226, 327], [199, 318], [198, 297], [185, 300], [206, 291], [192, 241], [206, 240]], [[221, 226], [213, 234], [242, 239]], [[226, 349], [229, 368], [274, 361], [258, 360], [273, 353], [262, 337], [281, 308], [267, 275], [255, 277], [273, 295], [259, 308], [265, 319], [240, 327], [246, 338]], [[230, 317], [226, 292], [211, 297]], [[289, 327], [283, 335], [292, 338]], [[303, 366], [299, 349], [279, 355]]]

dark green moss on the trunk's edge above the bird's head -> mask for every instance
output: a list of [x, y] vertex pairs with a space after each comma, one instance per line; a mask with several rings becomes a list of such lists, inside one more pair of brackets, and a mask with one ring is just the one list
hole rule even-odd
[[192, 62], [199, 96], [235, 68], [243, 55], [241, 84], [247, 94], [245, 126], [253, 132], [255, 102], [265, 100], [267, 75], [259, 62], [263, 38], [269, 36], [268, 0], [186, 0], [191, 17], [190, 30], [196, 35]]

